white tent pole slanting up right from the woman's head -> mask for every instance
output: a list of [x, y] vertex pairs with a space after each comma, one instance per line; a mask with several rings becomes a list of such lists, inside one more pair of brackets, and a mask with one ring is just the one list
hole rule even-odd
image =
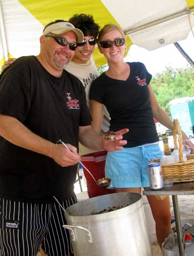
[[157, 26], [157, 25], [160, 25], [160, 24], [163, 24], [163, 23], [165, 23], [165, 22], [168, 22], [168, 21], [170, 21], [170, 20], [175, 20], [175, 19], [177, 19], [177, 18], [186, 16], [186, 15], [188, 15], [188, 12], [189, 12], [189, 13], [194, 13], [194, 8], [189, 9], [189, 11], [188, 11], [188, 10], [185, 10], [185, 11], [183, 11], [183, 12], [179, 12], [179, 13], [170, 15], [170, 16], [165, 17], [165, 18], [162, 18], [162, 19], [160, 19], [160, 20], [156, 20], [156, 21], [150, 22], [150, 23], [145, 24], [145, 25], [143, 25], [143, 26], [140, 26], [140, 27], [138, 27], [138, 28], [134, 28], [134, 29], [128, 30], [128, 31], [125, 32], [125, 35], [126, 35], [126, 36], [129, 36], [129, 35], [131, 35], [131, 34], [135, 34], [135, 33], [137, 33], [137, 32], [143, 31], [143, 30], [145, 30], [145, 29], [147, 29], [147, 28], [152, 28], [152, 27], [155, 27], [155, 26]]

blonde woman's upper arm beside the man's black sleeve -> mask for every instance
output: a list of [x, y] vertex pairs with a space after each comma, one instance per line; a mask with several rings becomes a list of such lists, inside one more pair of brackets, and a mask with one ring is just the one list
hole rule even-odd
[[102, 127], [102, 120], [104, 115], [104, 105], [96, 100], [90, 100], [91, 103], [91, 116], [92, 116], [92, 128], [100, 134]]

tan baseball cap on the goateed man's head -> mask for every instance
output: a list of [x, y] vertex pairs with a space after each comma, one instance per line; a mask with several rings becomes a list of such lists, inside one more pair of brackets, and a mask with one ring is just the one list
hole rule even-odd
[[47, 26], [45, 28], [45, 30], [43, 31], [43, 36], [46, 36], [49, 33], [60, 35], [60, 34], [66, 33], [67, 31], [70, 31], [70, 30], [72, 30], [76, 34], [78, 43], [81, 43], [84, 40], [84, 34], [82, 33], [82, 31], [78, 28], [75, 28], [73, 26], [73, 24], [66, 22], [66, 21], [57, 22], [57, 23]]

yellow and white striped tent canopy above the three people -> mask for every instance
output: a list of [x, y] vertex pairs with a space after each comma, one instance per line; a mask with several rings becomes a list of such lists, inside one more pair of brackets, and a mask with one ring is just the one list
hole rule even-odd
[[[194, 0], [0, 0], [0, 68], [8, 57], [39, 54], [44, 26], [74, 14], [92, 14], [101, 28], [120, 25], [128, 50], [131, 44], [154, 50], [187, 38], [193, 12]], [[96, 66], [106, 63], [98, 48], [94, 58]]]

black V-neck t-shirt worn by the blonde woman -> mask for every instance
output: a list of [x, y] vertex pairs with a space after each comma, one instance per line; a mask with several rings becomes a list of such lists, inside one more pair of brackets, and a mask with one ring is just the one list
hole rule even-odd
[[149, 100], [148, 84], [152, 78], [141, 62], [127, 62], [130, 74], [126, 81], [102, 73], [92, 82], [90, 99], [104, 104], [110, 114], [110, 131], [128, 128], [123, 134], [125, 148], [159, 141]]

